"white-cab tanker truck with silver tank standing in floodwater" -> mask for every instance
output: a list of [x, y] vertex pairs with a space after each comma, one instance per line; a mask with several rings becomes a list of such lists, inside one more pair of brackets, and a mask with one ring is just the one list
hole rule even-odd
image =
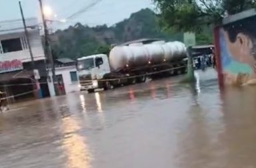
[[187, 48], [182, 42], [153, 42], [115, 46], [109, 56], [95, 54], [77, 59], [81, 90], [94, 92], [118, 86], [184, 74], [187, 71]]

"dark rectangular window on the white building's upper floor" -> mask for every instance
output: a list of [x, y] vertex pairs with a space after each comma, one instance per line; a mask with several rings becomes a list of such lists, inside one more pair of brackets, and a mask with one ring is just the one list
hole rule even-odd
[[21, 39], [8, 39], [1, 41], [3, 53], [22, 50]]

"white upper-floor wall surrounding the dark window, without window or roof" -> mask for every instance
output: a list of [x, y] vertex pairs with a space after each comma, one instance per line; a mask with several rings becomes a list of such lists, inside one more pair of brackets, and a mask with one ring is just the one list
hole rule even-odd
[[[3, 53], [3, 48], [1, 47], [1, 41], [7, 40], [7, 39], [16, 39], [16, 38], [21, 39], [22, 50]], [[35, 29], [32, 31], [31, 30], [29, 31], [29, 41], [31, 44], [34, 60], [45, 59], [39, 30]], [[27, 46], [25, 33], [19, 32], [19, 33], [10, 33], [5, 35], [0, 35], [0, 56], [1, 56], [0, 57], [1, 61], [17, 59], [17, 60], [21, 60], [22, 62], [31, 62], [31, 56], [29, 54], [29, 47]]]

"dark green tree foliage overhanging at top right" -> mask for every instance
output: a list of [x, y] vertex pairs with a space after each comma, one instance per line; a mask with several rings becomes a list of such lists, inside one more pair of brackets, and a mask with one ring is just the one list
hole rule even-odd
[[182, 31], [201, 31], [219, 24], [226, 15], [256, 7], [255, 0], [153, 0], [161, 23]]

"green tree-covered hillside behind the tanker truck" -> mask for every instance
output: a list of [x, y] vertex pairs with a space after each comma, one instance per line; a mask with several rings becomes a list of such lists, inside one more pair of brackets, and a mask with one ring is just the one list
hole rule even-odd
[[150, 9], [142, 9], [112, 27], [88, 27], [77, 23], [63, 31], [56, 31], [52, 35], [53, 56], [75, 59], [79, 56], [108, 52], [111, 44], [143, 38], [183, 41], [182, 33], [170, 35], [161, 31], [155, 13]]

